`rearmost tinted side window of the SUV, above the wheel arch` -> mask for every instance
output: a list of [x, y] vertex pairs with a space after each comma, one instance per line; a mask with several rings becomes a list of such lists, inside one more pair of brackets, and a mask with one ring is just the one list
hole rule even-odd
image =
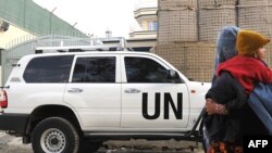
[[26, 66], [26, 82], [67, 82], [73, 55], [40, 56], [33, 59]]

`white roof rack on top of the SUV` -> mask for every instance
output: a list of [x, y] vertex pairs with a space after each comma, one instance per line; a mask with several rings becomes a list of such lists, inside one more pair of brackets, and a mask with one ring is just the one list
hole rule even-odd
[[[76, 43], [75, 43], [76, 42]], [[35, 53], [85, 52], [85, 51], [132, 51], [123, 37], [52, 39], [51, 47], [38, 47]]]

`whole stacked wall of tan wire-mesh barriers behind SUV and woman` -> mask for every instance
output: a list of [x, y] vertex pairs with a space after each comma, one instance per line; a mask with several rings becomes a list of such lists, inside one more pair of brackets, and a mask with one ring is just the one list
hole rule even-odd
[[[159, 0], [158, 4], [153, 52], [194, 80], [211, 80], [218, 34], [224, 26], [272, 37], [272, 0]], [[265, 48], [272, 50], [272, 44]], [[272, 66], [271, 51], [265, 62]]]

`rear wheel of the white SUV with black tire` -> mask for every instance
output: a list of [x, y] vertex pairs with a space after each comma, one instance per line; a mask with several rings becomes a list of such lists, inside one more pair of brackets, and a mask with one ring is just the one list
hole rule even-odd
[[77, 153], [79, 136], [75, 127], [61, 117], [41, 120], [32, 135], [34, 153]]

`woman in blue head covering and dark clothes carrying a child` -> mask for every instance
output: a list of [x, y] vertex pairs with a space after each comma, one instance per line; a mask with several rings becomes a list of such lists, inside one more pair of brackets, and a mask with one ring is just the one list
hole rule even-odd
[[[236, 36], [239, 28], [224, 27], [218, 38], [214, 69], [222, 62], [237, 54]], [[228, 62], [230, 63], [230, 62]], [[214, 71], [215, 72], [215, 71]], [[243, 136], [267, 133], [267, 129], [247, 105], [245, 88], [227, 71], [213, 76], [212, 87], [206, 99], [207, 113], [203, 116], [203, 140], [210, 153], [242, 153]], [[245, 117], [246, 116], [246, 117]], [[250, 118], [257, 130], [248, 130]], [[257, 131], [257, 132], [256, 132]]]

